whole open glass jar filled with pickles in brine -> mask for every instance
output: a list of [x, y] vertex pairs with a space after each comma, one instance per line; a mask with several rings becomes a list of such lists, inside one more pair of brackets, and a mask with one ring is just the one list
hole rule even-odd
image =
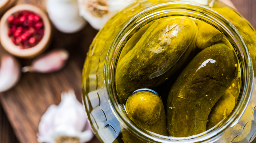
[[232, 8], [136, 1], [91, 44], [83, 102], [102, 142], [251, 142], [256, 33]]

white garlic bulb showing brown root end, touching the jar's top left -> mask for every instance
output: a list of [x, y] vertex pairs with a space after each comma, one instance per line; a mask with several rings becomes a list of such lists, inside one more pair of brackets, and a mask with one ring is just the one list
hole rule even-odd
[[118, 11], [136, 0], [78, 0], [80, 15], [99, 30]]

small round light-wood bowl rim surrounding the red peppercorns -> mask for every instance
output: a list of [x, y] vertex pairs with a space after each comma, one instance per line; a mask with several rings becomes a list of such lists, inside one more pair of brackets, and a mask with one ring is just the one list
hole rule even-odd
[[[44, 24], [45, 31], [43, 38], [37, 43], [37, 45], [28, 49], [20, 49], [20, 47], [16, 46], [8, 36], [8, 17], [20, 10], [28, 10], [38, 14], [42, 18]], [[40, 8], [30, 4], [21, 4], [9, 9], [0, 21], [0, 31], [0, 42], [5, 50], [14, 56], [22, 58], [32, 58], [42, 53], [49, 46], [52, 34], [51, 24], [47, 15]]]

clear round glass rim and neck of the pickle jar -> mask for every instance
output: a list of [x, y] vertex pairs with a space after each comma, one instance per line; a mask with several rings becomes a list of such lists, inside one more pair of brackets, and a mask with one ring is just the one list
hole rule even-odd
[[[127, 40], [145, 24], [167, 16], [188, 16], [198, 20], [206, 21], [207, 23], [219, 29], [228, 39], [231, 40], [234, 50], [237, 52], [237, 57], [240, 62], [242, 71], [242, 86], [240, 91], [240, 98], [237, 106], [230, 114], [230, 116], [216, 128], [207, 130], [198, 135], [189, 137], [167, 137], [156, 135], [154, 133], [145, 132], [138, 128], [125, 114], [123, 107], [119, 104], [116, 95], [115, 87], [115, 71], [117, 60], [120, 56], [121, 50]], [[111, 44], [110, 50], [104, 68], [104, 80], [107, 86], [109, 101], [112, 106], [112, 111], [121, 122], [126, 125], [133, 133], [143, 138], [145, 141], [154, 140], [156, 142], [169, 143], [179, 140], [180, 142], [194, 143], [194, 142], [213, 142], [218, 140], [229, 127], [235, 125], [249, 103], [252, 87], [253, 87], [253, 69], [251, 65], [251, 58], [248, 54], [247, 47], [243, 41], [242, 36], [238, 30], [223, 16], [212, 10], [211, 8], [201, 5], [187, 3], [187, 2], [170, 2], [159, 4], [151, 8], [147, 8], [130, 19], [118, 32], [114, 41]]]

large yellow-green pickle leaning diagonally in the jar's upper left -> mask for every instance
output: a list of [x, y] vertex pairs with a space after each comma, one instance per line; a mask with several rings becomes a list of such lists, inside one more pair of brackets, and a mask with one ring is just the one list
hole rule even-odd
[[126, 101], [136, 89], [156, 87], [174, 74], [190, 54], [196, 33], [197, 26], [188, 17], [166, 17], [153, 22], [117, 64], [119, 101]]

